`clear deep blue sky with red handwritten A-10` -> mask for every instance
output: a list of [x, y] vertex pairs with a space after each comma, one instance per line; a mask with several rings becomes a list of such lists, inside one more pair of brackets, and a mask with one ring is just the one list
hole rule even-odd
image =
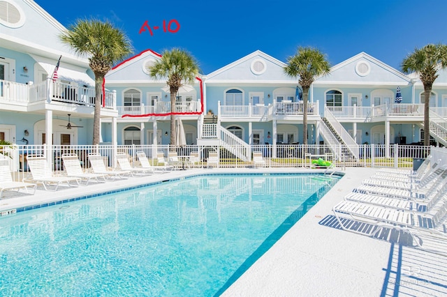
[[[318, 47], [331, 66], [366, 52], [400, 70], [416, 47], [447, 44], [445, 0], [36, 3], [64, 26], [86, 17], [109, 20], [129, 36], [134, 54], [180, 47], [197, 59], [204, 74], [256, 50], [286, 62], [298, 46]], [[177, 21], [178, 31], [173, 21], [170, 29], [176, 32], [163, 32], [163, 20], [166, 25]], [[139, 33], [145, 21], [152, 36], [147, 30]]]

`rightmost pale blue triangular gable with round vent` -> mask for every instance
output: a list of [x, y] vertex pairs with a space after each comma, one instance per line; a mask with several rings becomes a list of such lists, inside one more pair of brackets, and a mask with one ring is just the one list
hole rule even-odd
[[[368, 68], [365, 73], [360, 73], [359, 65]], [[395, 85], [411, 84], [411, 78], [373, 56], [360, 52], [333, 66], [328, 75], [317, 77], [315, 84]]]

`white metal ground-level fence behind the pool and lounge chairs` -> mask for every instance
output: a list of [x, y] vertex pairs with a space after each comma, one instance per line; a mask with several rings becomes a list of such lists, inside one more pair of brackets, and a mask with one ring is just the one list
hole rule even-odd
[[[240, 151], [247, 148], [240, 146]], [[89, 171], [89, 153], [100, 153], [103, 155], [105, 165], [117, 167], [115, 155], [117, 153], [127, 153], [133, 166], [139, 166], [136, 153], [144, 151], [152, 162], [157, 165], [157, 153], [163, 153], [168, 157], [170, 151], [177, 152], [180, 156], [189, 156], [191, 153], [197, 155], [193, 164], [188, 167], [207, 167], [208, 154], [212, 151], [219, 152], [219, 167], [254, 167], [252, 152], [261, 152], [265, 160], [266, 167], [311, 167], [313, 160], [320, 158], [332, 162], [338, 168], [344, 167], [404, 167], [413, 168], [415, 158], [426, 158], [430, 154], [430, 146], [411, 145], [361, 145], [359, 147], [358, 160], [343, 160], [335, 158], [334, 151], [327, 145], [307, 145], [302, 144], [281, 144], [281, 145], [251, 145], [249, 146], [249, 158], [243, 160], [237, 158], [235, 153], [224, 146], [198, 146], [189, 145], [184, 147], [172, 147], [168, 145], [101, 145], [101, 146], [45, 146], [28, 145], [0, 146], [0, 158], [8, 158], [10, 161], [10, 171], [15, 181], [22, 181], [29, 178], [31, 172], [27, 166], [27, 155], [45, 155], [50, 168], [54, 174], [64, 175], [64, 163], [62, 155], [65, 153], [75, 153], [78, 155], [82, 168]], [[439, 151], [447, 151], [446, 148], [437, 148]], [[388, 151], [389, 158], [386, 158]], [[447, 156], [447, 153], [446, 153]], [[447, 157], [446, 157], [447, 159]]]

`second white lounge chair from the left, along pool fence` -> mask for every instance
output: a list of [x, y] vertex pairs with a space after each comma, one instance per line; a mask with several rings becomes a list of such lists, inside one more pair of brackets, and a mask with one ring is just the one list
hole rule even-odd
[[24, 181], [33, 181], [35, 183], [42, 183], [45, 190], [50, 185], [54, 185], [54, 191], [59, 188], [59, 185], [66, 183], [68, 186], [73, 187], [71, 182], [75, 185], [79, 185], [80, 178], [70, 176], [54, 176], [52, 170], [48, 166], [47, 159], [43, 155], [27, 155], [27, 162], [29, 169], [31, 170], [31, 178], [24, 178]]

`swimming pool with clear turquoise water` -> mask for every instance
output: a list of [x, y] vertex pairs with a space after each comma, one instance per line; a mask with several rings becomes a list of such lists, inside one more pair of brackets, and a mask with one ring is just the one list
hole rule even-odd
[[219, 294], [338, 178], [195, 176], [0, 218], [0, 294]]

